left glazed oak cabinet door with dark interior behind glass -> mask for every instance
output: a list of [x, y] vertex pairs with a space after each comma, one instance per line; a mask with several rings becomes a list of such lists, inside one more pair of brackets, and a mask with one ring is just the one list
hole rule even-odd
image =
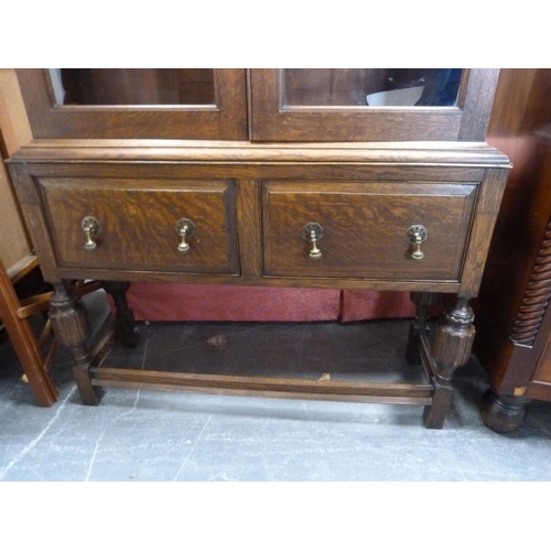
[[247, 139], [245, 69], [18, 69], [34, 138]]

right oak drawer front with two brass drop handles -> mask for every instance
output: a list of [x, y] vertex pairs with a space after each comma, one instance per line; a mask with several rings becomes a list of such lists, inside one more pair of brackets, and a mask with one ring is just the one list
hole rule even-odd
[[[477, 184], [263, 182], [264, 276], [458, 281]], [[304, 238], [323, 228], [320, 259]], [[422, 260], [408, 231], [422, 225]]]

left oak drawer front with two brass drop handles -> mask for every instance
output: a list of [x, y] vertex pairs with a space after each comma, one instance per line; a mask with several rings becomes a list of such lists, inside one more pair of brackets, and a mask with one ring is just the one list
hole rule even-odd
[[[62, 268], [238, 273], [231, 181], [43, 177], [39, 184]], [[85, 247], [85, 217], [99, 223], [93, 250]], [[185, 252], [181, 219], [194, 227]]]

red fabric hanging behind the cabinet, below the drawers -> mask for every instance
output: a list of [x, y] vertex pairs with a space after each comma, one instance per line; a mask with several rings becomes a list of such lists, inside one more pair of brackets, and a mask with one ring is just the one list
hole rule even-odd
[[133, 283], [128, 300], [141, 321], [343, 322], [410, 317], [407, 292]]

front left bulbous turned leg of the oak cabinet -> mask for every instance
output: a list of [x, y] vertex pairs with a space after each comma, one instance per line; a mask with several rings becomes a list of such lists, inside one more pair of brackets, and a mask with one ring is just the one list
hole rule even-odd
[[75, 377], [80, 399], [86, 406], [97, 406], [101, 399], [101, 388], [91, 385], [91, 356], [86, 341], [89, 337], [89, 325], [85, 306], [76, 295], [68, 295], [63, 283], [54, 287], [51, 299], [50, 320], [60, 344], [71, 349], [74, 359]]

